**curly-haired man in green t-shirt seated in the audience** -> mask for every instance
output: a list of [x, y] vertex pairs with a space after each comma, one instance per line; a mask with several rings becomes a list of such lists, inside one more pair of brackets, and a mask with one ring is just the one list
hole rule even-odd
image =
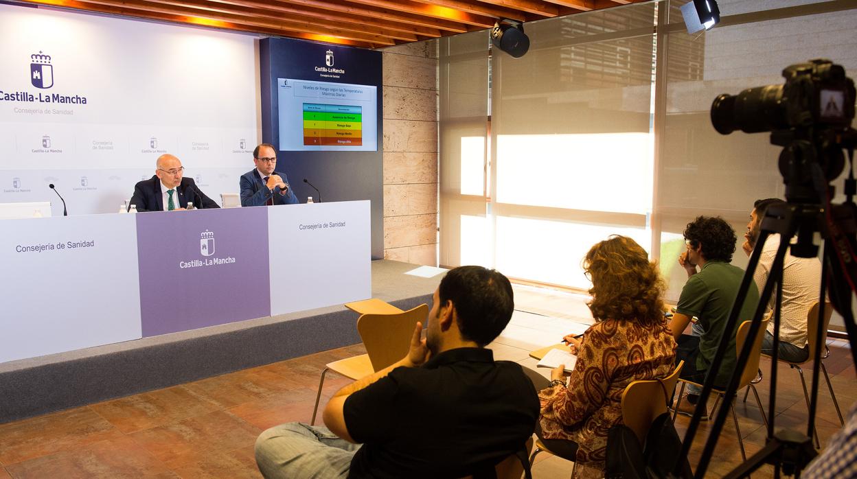
[[[684, 237], [687, 250], [680, 254], [679, 264], [687, 272], [687, 283], [681, 290], [669, 326], [679, 344], [675, 350], [675, 362], [685, 362], [680, 378], [702, 384], [720, 345], [744, 270], [729, 264], [735, 252], [735, 231], [722, 218], [699, 216], [687, 224]], [[758, 289], [754, 283], [747, 290], [738, 321], [731, 331], [726, 332], [728, 350], [720, 368], [715, 371], [717, 388], [725, 388], [735, 370], [735, 333], [741, 321], [752, 319], [757, 303]], [[691, 334], [684, 334], [693, 317], [698, 321], [692, 326]], [[700, 388], [688, 385], [686, 391], [686, 397], [681, 398], [679, 413], [692, 416]], [[708, 418], [707, 411], [703, 418]]]

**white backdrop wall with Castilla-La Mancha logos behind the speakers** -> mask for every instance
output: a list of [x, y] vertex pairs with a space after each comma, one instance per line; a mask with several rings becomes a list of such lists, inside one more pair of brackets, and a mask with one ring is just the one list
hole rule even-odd
[[0, 202], [62, 214], [55, 183], [69, 214], [113, 213], [162, 153], [215, 201], [237, 192], [261, 137], [254, 39], [0, 5]]

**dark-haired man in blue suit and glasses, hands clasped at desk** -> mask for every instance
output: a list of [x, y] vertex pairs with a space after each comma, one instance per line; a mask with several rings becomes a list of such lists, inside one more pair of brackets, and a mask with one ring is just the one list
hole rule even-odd
[[297, 196], [289, 187], [285, 173], [274, 171], [277, 153], [273, 145], [262, 143], [253, 150], [256, 167], [241, 176], [241, 206], [263, 207], [271, 205], [294, 205]]

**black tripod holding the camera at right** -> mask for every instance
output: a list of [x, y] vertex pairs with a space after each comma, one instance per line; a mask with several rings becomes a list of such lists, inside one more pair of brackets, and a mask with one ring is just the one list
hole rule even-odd
[[[770, 268], [770, 276], [765, 281], [758, 306], [753, 314], [748, 338], [740, 350], [737, 362], [739, 368], [732, 374], [723, 399], [725, 404], [725, 401], [733, 400], [737, 392], [740, 380], [740, 365], [746, 363], [752, 350], [752, 344], [755, 343], [757, 335], [761, 333], [759, 330], [761, 329], [764, 311], [770, 301], [770, 296], [774, 293], [776, 285], [774, 349], [772, 354], [773, 366], [770, 373], [771, 386], [768, 404], [767, 444], [762, 450], [754, 454], [751, 458], [748, 458], [744, 464], [740, 464], [740, 466], [731, 471], [726, 476], [728, 478], [749, 476], [753, 470], [758, 469], [759, 466], [765, 463], [774, 464], [776, 477], [779, 477], [781, 472], [787, 475], [798, 474], [800, 476], [800, 470], [803, 470], [806, 464], [817, 454], [812, 447], [812, 440], [810, 438], [815, 430], [816, 408], [818, 405], [818, 373], [821, 364], [821, 350], [823, 350], [822, 346], [824, 346], [824, 344], [821, 344], [824, 337], [824, 308], [819, 308], [818, 310], [818, 333], [816, 334], [813, 357], [812, 397], [806, 434], [791, 430], [782, 430], [776, 433], [774, 431], [776, 416], [776, 363], [779, 356], [777, 346], [779, 344], [779, 326], [782, 309], [782, 267], [788, 248], [791, 248], [792, 254], [798, 257], [813, 258], [818, 255], [818, 246], [813, 243], [813, 237], [816, 232], [820, 233], [824, 238], [822, 276], [818, 293], [819, 301], [824, 302], [825, 293], [829, 293], [831, 302], [833, 302], [837, 310], [842, 314], [851, 344], [852, 359], [854, 360], [855, 367], [857, 367], [857, 326], [854, 324], [854, 315], [850, 304], [851, 291], [854, 290], [854, 281], [852, 278], [857, 277], [853, 275], [849, 276], [849, 273], [857, 269], [854, 266], [857, 256], [854, 255], [853, 246], [854, 236], [857, 233], [857, 227], [854, 225], [854, 210], [857, 207], [854, 207], [854, 203], [851, 201], [855, 190], [857, 190], [857, 181], [854, 180], [852, 171], [851, 176], [846, 181], [848, 201], [836, 208], [831, 208], [829, 198], [832, 195], [832, 187], [827, 186], [826, 182], [822, 181], [824, 173], [818, 163], [806, 161], [806, 155], [802, 157], [795, 155], [796, 152], [800, 153], [801, 151], [806, 153], [807, 150], [806, 148], [800, 148], [800, 146], [794, 147], [794, 145], [789, 145], [781, 155], [781, 170], [783, 157], [786, 157], [786, 165], [800, 165], [800, 167], [788, 168], [788, 172], [790, 173], [786, 177], [786, 197], [788, 203], [782, 206], [771, 206], [765, 213], [757, 244], [753, 248], [746, 273], [741, 279], [738, 294], [724, 326], [724, 334], [709, 369], [710, 371], [716, 371], [720, 368], [723, 355], [728, 349], [728, 332], [734, 331], [741, 305], [746, 299], [747, 291], [752, 287], [753, 272], [755, 272], [758, 266], [764, 243], [770, 234], [778, 233], [780, 235], [780, 243], [776, 249], [776, 255]], [[809, 158], [814, 159], [814, 157]], [[808, 180], [800, 178], [800, 175], [807, 172], [809, 172], [806, 175]], [[819, 197], [825, 199], [824, 205], [826, 207], [822, 207], [821, 201], [816, 200]], [[839, 217], [839, 223], [834, 221], [834, 216]], [[791, 238], [795, 234], [797, 234], [797, 242], [790, 244]], [[828, 291], [829, 278], [832, 278], [832, 281], [830, 281], [831, 287]], [[707, 403], [712, 386], [714, 386], [715, 377], [716, 374], [708, 374], [706, 376], [698, 404]], [[700, 406], [694, 411], [690, 425], [687, 428], [685, 440], [681, 446], [680, 458], [687, 457], [692, 440], [697, 433], [699, 422], [701, 421], [703, 408], [704, 406]], [[696, 477], [701, 478], [705, 475], [727, 416], [728, 408], [721, 407], [717, 411], [711, 432], [704, 446], [702, 457], [697, 465]], [[676, 464], [674, 475], [678, 476], [679, 473], [679, 464]]]

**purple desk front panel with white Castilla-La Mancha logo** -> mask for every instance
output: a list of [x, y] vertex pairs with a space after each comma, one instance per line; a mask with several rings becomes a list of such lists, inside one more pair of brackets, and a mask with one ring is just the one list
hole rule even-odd
[[144, 338], [271, 315], [267, 208], [136, 217]]

